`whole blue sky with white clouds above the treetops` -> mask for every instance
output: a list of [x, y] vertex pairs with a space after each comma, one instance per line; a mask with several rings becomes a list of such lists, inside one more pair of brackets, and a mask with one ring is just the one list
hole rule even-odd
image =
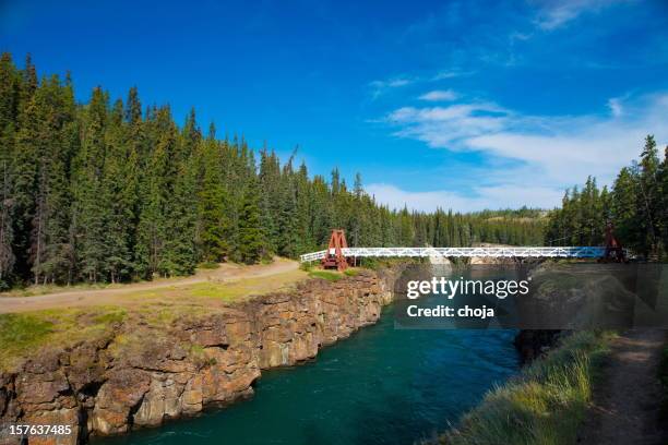
[[550, 208], [668, 143], [665, 0], [0, 0], [0, 51], [393, 207]]

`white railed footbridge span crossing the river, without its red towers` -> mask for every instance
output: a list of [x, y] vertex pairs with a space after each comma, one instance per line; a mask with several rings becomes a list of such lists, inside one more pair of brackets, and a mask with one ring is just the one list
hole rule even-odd
[[[335, 249], [330, 249], [335, 255]], [[606, 248], [342, 248], [344, 256], [481, 256], [493, 258], [508, 257], [550, 257], [550, 258], [599, 258], [606, 254]], [[300, 255], [302, 263], [322, 260], [327, 251], [311, 252]]]

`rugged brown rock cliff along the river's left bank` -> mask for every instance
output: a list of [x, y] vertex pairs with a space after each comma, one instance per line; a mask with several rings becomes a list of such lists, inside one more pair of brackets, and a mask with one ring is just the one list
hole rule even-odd
[[250, 397], [263, 369], [311, 359], [377, 322], [393, 277], [315, 279], [167, 327], [127, 321], [90, 341], [50, 345], [0, 373], [0, 423], [74, 425], [72, 435], [29, 443], [76, 444]]

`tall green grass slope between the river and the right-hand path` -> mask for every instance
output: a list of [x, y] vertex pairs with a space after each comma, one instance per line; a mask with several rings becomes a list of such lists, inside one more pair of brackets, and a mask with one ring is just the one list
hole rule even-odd
[[569, 336], [522, 374], [491, 389], [460, 424], [440, 436], [448, 445], [573, 444], [592, 399], [610, 334]]

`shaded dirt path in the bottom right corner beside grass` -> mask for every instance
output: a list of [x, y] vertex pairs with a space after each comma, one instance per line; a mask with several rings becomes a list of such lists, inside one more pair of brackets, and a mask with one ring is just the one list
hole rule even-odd
[[665, 341], [665, 330], [631, 330], [613, 341], [578, 443], [668, 444], [658, 422], [661, 390], [657, 373]]

